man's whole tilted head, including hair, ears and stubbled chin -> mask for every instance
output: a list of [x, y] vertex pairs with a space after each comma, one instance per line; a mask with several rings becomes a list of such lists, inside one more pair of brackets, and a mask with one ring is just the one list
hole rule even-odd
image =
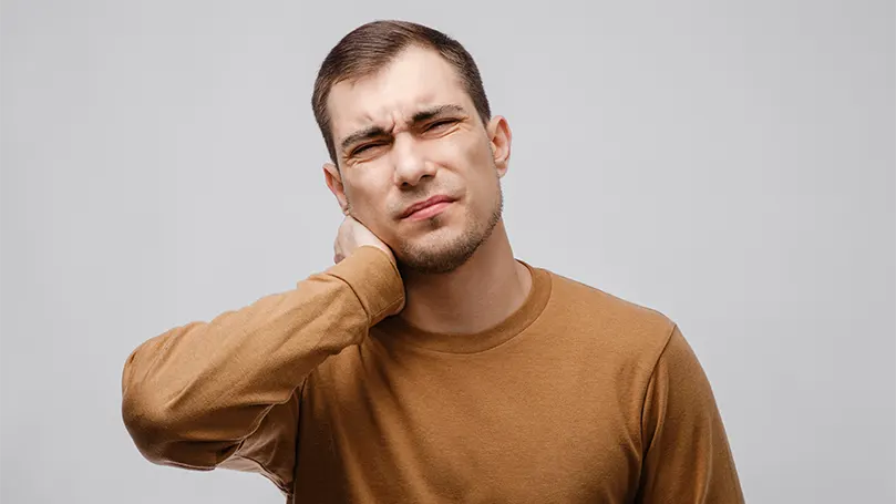
[[[408, 22], [364, 24], [325, 59], [312, 106], [327, 185], [401, 266], [447, 272], [491, 236], [511, 132], [460, 43]], [[409, 215], [433, 197], [444, 202]]]

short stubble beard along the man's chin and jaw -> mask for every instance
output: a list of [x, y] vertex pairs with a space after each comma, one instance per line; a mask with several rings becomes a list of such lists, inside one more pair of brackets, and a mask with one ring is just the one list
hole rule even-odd
[[[486, 219], [474, 219], [464, 232], [443, 244], [418, 246], [402, 243], [395, 250], [395, 259], [400, 270], [410, 270], [422, 275], [440, 275], [460, 268], [484, 244], [494, 232], [504, 212], [504, 194], [497, 185], [497, 202]], [[432, 230], [444, 225], [444, 218], [436, 215], [426, 220]]]

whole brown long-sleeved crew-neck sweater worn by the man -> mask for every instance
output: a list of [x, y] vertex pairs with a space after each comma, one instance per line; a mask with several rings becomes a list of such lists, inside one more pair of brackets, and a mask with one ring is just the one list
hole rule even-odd
[[140, 346], [125, 425], [154, 463], [258, 472], [288, 502], [742, 503], [676, 325], [525, 265], [519, 310], [440, 335], [387, 317], [401, 277], [361, 247]]

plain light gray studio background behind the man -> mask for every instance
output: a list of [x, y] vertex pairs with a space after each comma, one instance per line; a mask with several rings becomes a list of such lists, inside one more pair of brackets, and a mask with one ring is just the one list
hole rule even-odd
[[516, 255], [681, 326], [750, 502], [894, 502], [894, 2], [424, 3], [0, 2], [0, 501], [282, 501], [145, 462], [121, 370], [329, 266], [315, 73], [402, 18], [509, 120]]

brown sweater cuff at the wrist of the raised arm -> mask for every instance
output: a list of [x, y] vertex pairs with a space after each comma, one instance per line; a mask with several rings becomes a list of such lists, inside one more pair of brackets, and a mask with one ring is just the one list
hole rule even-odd
[[364, 245], [333, 265], [330, 275], [348, 284], [367, 311], [370, 327], [375, 326], [404, 302], [404, 282], [384, 251]]

